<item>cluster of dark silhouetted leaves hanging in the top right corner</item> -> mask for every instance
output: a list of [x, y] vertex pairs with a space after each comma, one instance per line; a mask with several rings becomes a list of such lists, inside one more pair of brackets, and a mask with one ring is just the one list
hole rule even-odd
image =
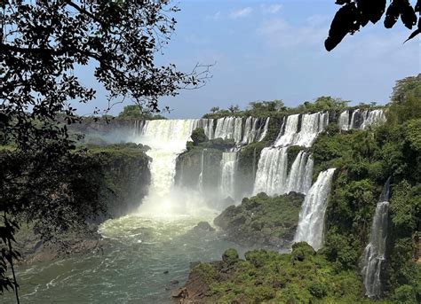
[[324, 42], [327, 51], [333, 50], [346, 35], [355, 34], [369, 22], [377, 23], [384, 14], [385, 28], [392, 28], [399, 18], [409, 29], [417, 24], [407, 41], [421, 33], [421, 0], [417, 0], [415, 6], [409, 0], [391, 0], [387, 10], [386, 0], [337, 0], [336, 4], [341, 8], [332, 20], [329, 36]]

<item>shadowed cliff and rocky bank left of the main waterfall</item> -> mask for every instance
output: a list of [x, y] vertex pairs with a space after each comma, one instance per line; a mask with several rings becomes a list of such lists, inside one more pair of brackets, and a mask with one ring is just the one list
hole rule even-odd
[[[21, 223], [16, 248], [22, 254], [21, 263], [51, 261], [68, 254], [91, 253], [101, 251], [103, 241], [97, 232], [98, 225], [109, 218], [131, 213], [140, 205], [147, 194], [150, 183], [148, 168], [149, 157], [144, 147], [136, 144], [118, 144], [107, 147], [91, 147], [85, 157], [85, 166], [94, 161], [94, 183], [99, 187], [89, 191], [100, 202], [98, 215], [84, 214], [85, 224], [78, 224], [68, 230], [55, 231], [52, 241], [45, 241], [35, 233], [34, 223]], [[93, 167], [92, 167], [93, 168]], [[98, 171], [98, 172], [97, 172]], [[90, 172], [92, 173], [92, 172]], [[75, 171], [73, 175], [87, 175], [87, 172]], [[82, 199], [83, 200], [83, 199]], [[89, 200], [82, 202], [89, 210]]]

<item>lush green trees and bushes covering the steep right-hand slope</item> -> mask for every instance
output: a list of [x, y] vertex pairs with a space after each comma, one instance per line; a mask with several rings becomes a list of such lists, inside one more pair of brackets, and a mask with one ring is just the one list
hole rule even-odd
[[408, 303], [421, 300], [421, 265], [415, 261], [421, 226], [420, 87], [419, 75], [398, 82], [385, 125], [345, 134], [330, 126], [312, 148], [314, 176], [338, 168], [322, 249], [335, 269], [359, 271], [378, 197], [392, 177], [384, 280], [389, 297]]

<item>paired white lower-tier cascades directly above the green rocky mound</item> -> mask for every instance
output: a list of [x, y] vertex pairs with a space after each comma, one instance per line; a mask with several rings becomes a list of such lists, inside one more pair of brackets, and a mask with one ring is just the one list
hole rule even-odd
[[[290, 191], [306, 193], [313, 174], [313, 160], [307, 152], [298, 152], [290, 174], [288, 169], [288, 147], [264, 148], [258, 160], [253, 193], [266, 192], [279, 195]], [[310, 179], [310, 182], [308, 180]]]

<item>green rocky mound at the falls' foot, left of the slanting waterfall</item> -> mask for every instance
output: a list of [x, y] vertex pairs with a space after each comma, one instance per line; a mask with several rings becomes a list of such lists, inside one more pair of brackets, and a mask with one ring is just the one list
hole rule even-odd
[[290, 193], [268, 197], [259, 193], [242, 204], [227, 207], [214, 223], [226, 230], [228, 238], [248, 246], [286, 246], [294, 237], [304, 196]]

